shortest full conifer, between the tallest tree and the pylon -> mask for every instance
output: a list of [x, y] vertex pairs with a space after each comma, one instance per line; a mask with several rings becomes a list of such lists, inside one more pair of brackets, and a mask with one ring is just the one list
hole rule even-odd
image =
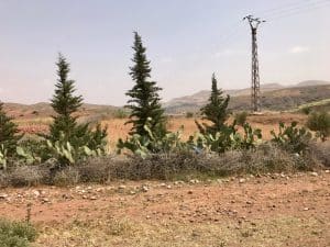
[[218, 89], [218, 81], [213, 74], [211, 96], [208, 100], [208, 103], [200, 109], [202, 120], [207, 120], [211, 122], [211, 124], [204, 123], [201, 125], [196, 121], [196, 124], [202, 134], [215, 134], [223, 128], [224, 122], [229, 116], [227, 108], [230, 97], [227, 96], [227, 98], [223, 98], [222, 94], [222, 90]]

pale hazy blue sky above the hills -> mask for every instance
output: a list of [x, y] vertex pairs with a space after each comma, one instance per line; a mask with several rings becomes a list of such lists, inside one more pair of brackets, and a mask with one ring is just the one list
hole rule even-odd
[[0, 100], [50, 101], [61, 52], [85, 102], [123, 105], [133, 31], [168, 101], [251, 83], [248, 14], [258, 33], [261, 83], [330, 81], [330, 0], [0, 0]]

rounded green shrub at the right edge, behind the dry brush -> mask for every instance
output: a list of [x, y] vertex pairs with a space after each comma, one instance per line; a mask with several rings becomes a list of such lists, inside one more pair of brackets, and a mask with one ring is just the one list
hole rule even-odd
[[330, 114], [328, 112], [312, 112], [308, 117], [307, 127], [317, 132], [317, 136], [326, 142], [330, 135]]

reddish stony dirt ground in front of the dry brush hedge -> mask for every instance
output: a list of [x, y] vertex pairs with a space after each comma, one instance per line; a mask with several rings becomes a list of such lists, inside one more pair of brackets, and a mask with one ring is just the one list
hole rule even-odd
[[36, 247], [330, 246], [329, 171], [0, 191], [1, 217], [29, 203]]

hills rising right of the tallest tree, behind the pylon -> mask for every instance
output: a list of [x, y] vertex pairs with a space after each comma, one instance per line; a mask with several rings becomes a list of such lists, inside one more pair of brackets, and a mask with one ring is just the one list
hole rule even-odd
[[[315, 83], [316, 86], [310, 86]], [[165, 104], [169, 114], [198, 111], [208, 100], [209, 91], [200, 91], [193, 96], [177, 98]], [[224, 91], [231, 96], [229, 108], [232, 110], [249, 110], [251, 105], [250, 89]], [[304, 81], [292, 87], [265, 85], [261, 87], [262, 109], [284, 111], [298, 108], [301, 104], [330, 99], [330, 82]]]

